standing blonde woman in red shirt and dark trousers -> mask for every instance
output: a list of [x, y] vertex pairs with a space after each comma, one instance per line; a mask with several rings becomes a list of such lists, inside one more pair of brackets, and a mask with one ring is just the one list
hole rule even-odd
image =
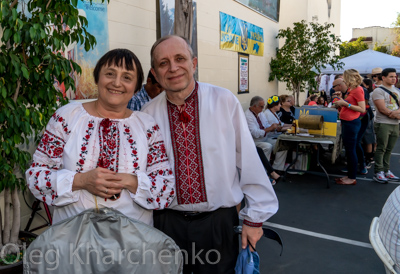
[[[341, 108], [339, 118], [342, 123], [342, 138], [346, 149], [348, 176], [337, 179], [336, 183], [355, 185], [357, 183], [358, 158], [360, 157], [357, 156], [357, 147], [362, 151], [360, 145], [362, 137], [360, 133], [361, 120], [359, 117], [361, 113], [365, 112], [364, 90], [360, 86], [362, 77], [355, 69], [345, 70], [343, 80], [348, 87], [347, 95], [345, 100], [340, 98], [335, 102], [335, 105]], [[335, 95], [340, 96], [338, 93]]]

